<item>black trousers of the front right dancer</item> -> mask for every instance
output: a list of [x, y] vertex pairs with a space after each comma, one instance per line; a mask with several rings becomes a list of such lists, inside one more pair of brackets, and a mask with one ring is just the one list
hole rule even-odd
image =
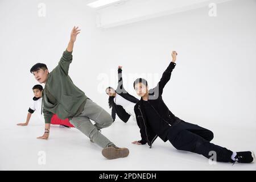
[[213, 139], [213, 133], [198, 125], [184, 122], [180, 119], [175, 125], [170, 127], [167, 135], [168, 140], [177, 150], [184, 150], [201, 154], [206, 158], [213, 156], [216, 152], [218, 162], [232, 162], [232, 151], [210, 143]]

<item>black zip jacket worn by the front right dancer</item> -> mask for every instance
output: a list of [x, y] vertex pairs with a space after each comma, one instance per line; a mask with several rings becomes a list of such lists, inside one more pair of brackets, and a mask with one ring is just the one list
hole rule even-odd
[[[166, 71], [164, 71], [162, 78], [158, 82], [158, 85], [154, 89], [148, 90], [148, 103], [152, 107], [152, 109], [155, 110], [155, 117], [150, 118], [151, 121], [156, 121], [155, 125], [158, 125], [158, 121], [166, 122], [167, 127], [170, 127], [176, 122], [176, 117], [174, 114], [171, 113], [171, 111], [168, 109], [168, 107], [164, 104], [162, 99], [162, 93], [163, 88], [167, 84], [167, 82], [171, 78], [171, 72], [175, 68], [175, 63], [171, 62]], [[158, 111], [156, 111], [158, 110]], [[139, 141], [142, 144], [148, 144], [151, 148], [152, 143], [155, 141], [155, 139], [158, 137], [158, 131], [153, 131], [150, 125], [147, 121], [147, 116], [143, 108], [143, 101], [142, 98], [137, 104], [134, 106], [134, 112], [137, 119], [137, 124], [140, 129], [141, 133], [141, 140]], [[161, 136], [159, 135], [161, 139], [166, 142], [166, 136], [164, 134]]]

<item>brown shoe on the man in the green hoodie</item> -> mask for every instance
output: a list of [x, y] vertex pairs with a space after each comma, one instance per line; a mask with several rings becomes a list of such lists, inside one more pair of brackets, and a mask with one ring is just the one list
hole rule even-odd
[[129, 155], [129, 150], [112, 144], [102, 150], [102, 155], [107, 159], [126, 158]]

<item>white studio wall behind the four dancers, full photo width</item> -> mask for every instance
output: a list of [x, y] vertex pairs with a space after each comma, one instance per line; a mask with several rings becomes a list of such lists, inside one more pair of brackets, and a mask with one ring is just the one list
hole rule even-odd
[[[46, 3], [45, 18], [37, 15], [39, 2]], [[148, 74], [150, 88], [155, 86], [175, 49], [177, 65], [163, 98], [177, 117], [206, 127], [255, 127], [255, 5], [236, 0], [217, 5], [217, 17], [205, 7], [104, 30], [96, 28], [86, 1], [1, 0], [1, 123], [24, 121], [36, 84], [29, 69], [38, 61], [53, 69], [77, 25], [82, 32], [69, 73], [105, 109], [103, 88], [116, 86], [118, 65], [135, 95], [134, 78]], [[102, 74], [111, 80], [100, 79]]]

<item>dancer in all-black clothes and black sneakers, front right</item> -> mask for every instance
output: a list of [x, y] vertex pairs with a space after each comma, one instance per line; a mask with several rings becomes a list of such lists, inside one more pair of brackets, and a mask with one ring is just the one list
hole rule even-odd
[[172, 61], [154, 89], [148, 90], [147, 81], [143, 78], [134, 81], [134, 89], [141, 97], [134, 106], [134, 112], [142, 139], [133, 144], [147, 143], [151, 148], [155, 139], [160, 137], [164, 142], [169, 140], [177, 150], [195, 152], [218, 162], [254, 162], [254, 152], [232, 152], [210, 143], [213, 139], [212, 131], [181, 120], [164, 104], [163, 88], [171, 78], [176, 56], [176, 51], [172, 51]]

